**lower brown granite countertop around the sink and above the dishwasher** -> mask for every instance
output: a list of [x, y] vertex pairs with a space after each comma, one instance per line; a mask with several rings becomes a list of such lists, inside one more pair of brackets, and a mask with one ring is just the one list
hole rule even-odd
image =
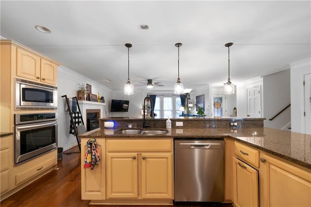
[[[311, 169], [311, 135], [272, 128], [173, 128], [166, 135], [114, 134], [120, 129], [96, 129], [84, 138], [224, 138], [229, 137], [261, 151]], [[148, 129], [146, 129], [148, 130]], [[163, 129], [162, 129], [163, 130]]]

